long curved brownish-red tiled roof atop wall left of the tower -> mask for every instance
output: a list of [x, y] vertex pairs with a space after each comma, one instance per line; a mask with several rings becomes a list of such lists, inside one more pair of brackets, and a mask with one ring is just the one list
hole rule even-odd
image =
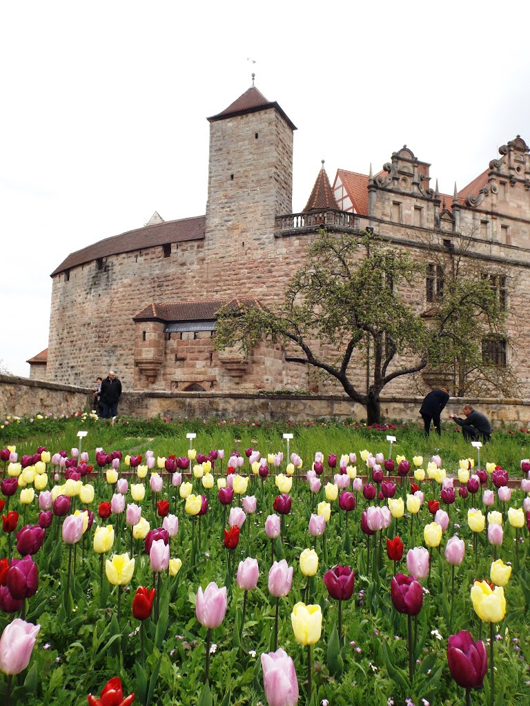
[[66, 260], [61, 262], [59, 267], [52, 272], [51, 276], [109, 255], [129, 253], [133, 250], [143, 250], [166, 243], [203, 240], [205, 224], [205, 216], [194, 216], [144, 226], [120, 235], [114, 235], [112, 238], [105, 238], [105, 240], [100, 240], [86, 248], [70, 253]]

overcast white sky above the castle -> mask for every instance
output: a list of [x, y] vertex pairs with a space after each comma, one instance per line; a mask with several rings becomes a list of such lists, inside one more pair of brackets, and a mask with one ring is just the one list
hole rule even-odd
[[47, 347], [68, 253], [205, 213], [206, 116], [252, 71], [298, 127], [293, 211], [322, 158], [333, 181], [405, 143], [461, 189], [530, 141], [529, 18], [526, 0], [2, 3], [0, 359], [27, 376]]

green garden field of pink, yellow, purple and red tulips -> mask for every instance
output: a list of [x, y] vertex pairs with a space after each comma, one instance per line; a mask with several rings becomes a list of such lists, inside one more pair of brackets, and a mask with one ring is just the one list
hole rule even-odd
[[0, 703], [526, 706], [529, 447], [8, 418]]

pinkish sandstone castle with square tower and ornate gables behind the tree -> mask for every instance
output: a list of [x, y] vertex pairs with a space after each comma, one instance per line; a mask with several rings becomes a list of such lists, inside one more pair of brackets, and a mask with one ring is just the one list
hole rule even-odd
[[[508, 332], [528, 341], [530, 154], [522, 138], [450, 195], [432, 188], [430, 164], [407, 146], [377, 174], [338, 169], [333, 186], [323, 164], [305, 209], [292, 213], [296, 128], [278, 103], [253, 84], [208, 121], [206, 215], [166, 222], [155, 213], [144, 227], [66, 257], [52, 273], [49, 345], [28, 361], [31, 377], [88, 386], [112, 368], [129, 390], [337, 391], [279, 346], [261, 344], [244, 357], [213, 345], [220, 307], [281, 297], [322, 227], [371, 229], [423, 263], [427, 241], [451, 258], [460, 234], [471, 234], [467, 255], [502, 268], [492, 286], [510, 311]], [[437, 265], [428, 263], [408, 301], [428, 311], [441, 286]], [[500, 339], [484, 350], [500, 366], [514, 364], [529, 397], [526, 346]], [[360, 362], [351, 366], [362, 386]], [[427, 371], [417, 382], [420, 389], [433, 379]], [[391, 391], [404, 389], [410, 379], [398, 378]]]

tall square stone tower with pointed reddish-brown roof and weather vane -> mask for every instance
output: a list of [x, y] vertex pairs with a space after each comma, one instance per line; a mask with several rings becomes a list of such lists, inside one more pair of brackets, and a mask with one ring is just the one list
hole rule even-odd
[[292, 121], [254, 86], [208, 118], [205, 251], [225, 265], [274, 248], [274, 217], [291, 213]]

